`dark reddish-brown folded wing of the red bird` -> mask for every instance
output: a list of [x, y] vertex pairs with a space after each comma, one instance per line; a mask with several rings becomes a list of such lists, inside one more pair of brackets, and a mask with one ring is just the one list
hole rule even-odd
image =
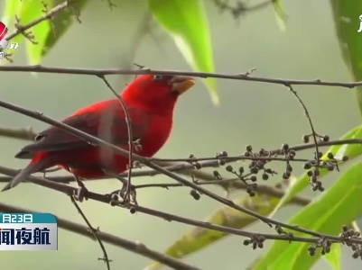
[[[133, 139], [143, 139], [151, 121], [150, 115], [135, 107], [128, 108], [128, 112], [131, 118], [130, 127], [132, 128]], [[116, 102], [107, 103], [102, 112], [84, 112], [70, 116], [62, 122], [112, 144], [126, 145], [128, 143], [125, 112], [117, 100]], [[58, 127], [51, 126], [47, 130], [40, 132], [35, 141], [25, 146], [15, 157], [32, 158], [35, 152], [62, 151], [86, 147], [89, 147], [87, 141], [79, 139]]]

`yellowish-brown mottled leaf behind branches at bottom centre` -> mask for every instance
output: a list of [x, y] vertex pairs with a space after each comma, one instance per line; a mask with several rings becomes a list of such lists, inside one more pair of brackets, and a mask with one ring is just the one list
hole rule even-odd
[[[255, 194], [255, 197], [246, 195], [234, 200], [237, 205], [256, 211], [262, 215], [267, 215], [270, 211], [273, 211], [278, 201], [279, 198], [258, 193]], [[240, 229], [255, 222], [255, 218], [227, 206], [218, 209], [218, 211], [214, 212], [205, 221], [212, 224]], [[193, 228], [186, 232], [179, 240], [174, 242], [171, 247], [168, 247], [164, 254], [176, 258], [185, 257], [209, 246], [227, 235], [228, 234], [220, 231]], [[146, 269], [157, 270], [161, 267], [162, 265], [160, 263], [154, 262], [153, 265], [148, 266]]]

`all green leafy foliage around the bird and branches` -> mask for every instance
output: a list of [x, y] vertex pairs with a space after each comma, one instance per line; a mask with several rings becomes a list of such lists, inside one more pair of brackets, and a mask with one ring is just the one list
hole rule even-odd
[[[67, 8], [50, 20], [44, 20], [32, 27], [31, 33], [24, 32], [16, 35], [12, 41], [26, 42], [27, 56], [30, 64], [40, 64], [42, 59], [56, 46], [60, 38], [70, 29], [72, 23], [77, 21], [77, 13], [87, 6], [89, 1], [76, 1], [72, 9]], [[286, 15], [283, 12], [281, 0], [272, 0], [276, 20], [285, 29]], [[5, 13], [2, 22], [11, 25], [20, 23], [24, 25], [42, 17], [45, 13], [62, 4], [62, 0], [43, 1], [14, 1], [5, 2]], [[208, 17], [201, 0], [148, 0], [150, 12], [159, 26], [166, 31], [174, 41], [182, 56], [196, 71], [213, 72], [214, 58], [212, 42], [209, 33]], [[330, 0], [334, 23], [340, 49], [351, 75], [358, 81], [362, 80], [362, 33], [358, 34], [362, 14], [362, 2], [355, 0]], [[16, 22], [14, 14], [17, 14], [20, 22]], [[120, 23], [122, 20], [120, 19]], [[14, 27], [13, 27], [13, 30]], [[214, 103], [218, 103], [217, 84], [214, 78], [205, 79], [209, 94]], [[357, 87], [357, 102], [362, 112], [362, 88]], [[362, 137], [362, 126], [349, 130], [341, 139], [354, 139]], [[331, 147], [327, 153], [333, 153], [335, 157], [348, 156], [346, 164], [362, 155], [360, 145], [341, 145]], [[321, 159], [327, 158], [327, 153]], [[320, 176], [328, 175], [326, 169], [320, 169]], [[362, 214], [362, 204], [359, 203], [362, 175], [362, 165], [357, 162], [341, 175], [338, 181], [326, 192], [313, 199], [311, 203], [297, 212], [290, 224], [298, 224], [304, 228], [321, 231], [323, 233], [338, 234], [341, 226], [351, 223]], [[309, 185], [308, 175], [303, 174], [289, 186], [283, 198], [264, 196], [256, 193], [254, 198], [243, 196], [234, 200], [237, 205], [252, 205], [259, 214], [274, 216], [274, 213], [290, 203], [292, 198], [301, 193]], [[351, 207], [351, 205], [353, 207]], [[207, 219], [208, 222], [235, 229], [243, 229], [256, 220], [239, 211], [227, 207], [218, 209]], [[295, 234], [298, 235], [298, 234]], [[214, 242], [227, 237], [227, 234], [210, 231], [207, 229], [190, 229], [180, 239], [175, 241], [165, 251], [165, 254], [182, 258], [186, 257]], [[320, 259], [320, 252], [314, 257], [308, 256], [306, 250], [308, 244], [299, 242], [275, 241], [264, 257], [260, 257], [252, 266], [253, 269], [283, 268], [286, 263], [290, 268], [308, 269]], [[340, 268], [340, 246], [332, 245], [330, 253], [325, 257], [334, 269]], [[149, 269], [158, 269], [161, 265], [153, 264]]]

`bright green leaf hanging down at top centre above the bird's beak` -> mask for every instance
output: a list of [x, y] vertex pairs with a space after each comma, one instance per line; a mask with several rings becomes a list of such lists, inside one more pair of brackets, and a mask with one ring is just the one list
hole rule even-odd
[[[214, 71], [208, 18], [200, 0], [148, 0], [156, 21], [173, 38], [183, 57], [192, 68]], [[205, 79], [211, 99], [218, 103], [215, 78]]]

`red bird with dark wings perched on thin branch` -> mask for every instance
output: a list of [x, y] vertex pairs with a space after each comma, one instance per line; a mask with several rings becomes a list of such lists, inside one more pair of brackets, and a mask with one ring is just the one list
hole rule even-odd
[[[141, 144], [135, 150], [138, 155], [152, 157], [162, 148], [172, 130], [175, 103], [194, 84], [190, 76], [142, 75], [125, 87], [121, 96], [130, 114], [133, 139], [139, 139]], [[62, 122], [129, 149], [125, 111], [117, 98], [93, 103]], [[122, 173], [128, 165], [127, 157], [90, 145], [55, 126], [40, 132], [15, 157], [32, 161], [2, 191], [51, 166], [62, 166], [80, 179], [96, 179], [105, 177], [105, 170]]]

